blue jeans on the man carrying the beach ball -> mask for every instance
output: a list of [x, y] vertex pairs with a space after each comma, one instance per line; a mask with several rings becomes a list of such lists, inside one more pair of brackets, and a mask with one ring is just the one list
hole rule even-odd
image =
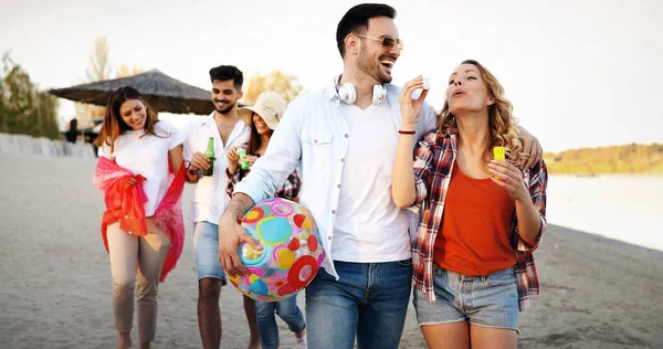
[[412, 261], [335, 261], [338, 281], [320, 268], [306, 287], [308, 348], [398, 348], [403, 332]]

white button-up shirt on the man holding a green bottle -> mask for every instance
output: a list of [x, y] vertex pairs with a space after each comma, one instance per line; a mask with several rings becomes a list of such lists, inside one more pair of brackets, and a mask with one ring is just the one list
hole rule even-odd
[[196, 183], [196, 195], [191, 202], [192, 222], [210, 222], [219, 224], [221, 214], [230, 203], [230, 197], [225, 193], [225, 169], [228, 168], [228, 150], [232, 147], [242, 146], [249, 140], [251, 129], [241, 119], [238, 120], [227, 144], [221, 141], [219, 127], [214, 120], [214, 112], [210, 116], [192, 121], [187, 129], [183, 157], [189, 166], [193, 154], [204, 154], [210, 137], [214, 138], [214, 171], [211, 177], [201, 176]]

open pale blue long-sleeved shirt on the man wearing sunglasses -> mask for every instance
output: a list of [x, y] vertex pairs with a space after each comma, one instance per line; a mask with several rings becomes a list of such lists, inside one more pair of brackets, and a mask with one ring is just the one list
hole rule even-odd
[[[387, 99], [397, 128], [402, 119], [398, 104], [400, 88], [388, 84]], [[332, 243], [336, 211], [343, 202], [338, 202], [338, 184], [345, 156], [349, 145], [349, 127], [345, 120], [336, 92], [330, 85], [322, 92], [313, 93], [293, 101], [283, 119], [274, 131], [270, 146], [251, 168], [251, 173], [240, 182], [234, 192], [250, 195], [254, 202], [271, 198], [287, 177], [299, 168], [302, 194], [299, 203], [307, 208], [318, 225], [325, 260], [323, 267], [338, 278], [334, 268]], [[424, 104], [417, 121], [415, 140], [436, 128], [436, 115], [433, 107]], [[362, 130], [371, 137], [370, 129]], [[375, 139], [380, 141], [380, 139]], [[414, 142], [417, 145], [417, 141]], [[390, 198], [390, 197], [389, 197]], [[419, 216], [408, 212], [410, 236], [417, 232]]]

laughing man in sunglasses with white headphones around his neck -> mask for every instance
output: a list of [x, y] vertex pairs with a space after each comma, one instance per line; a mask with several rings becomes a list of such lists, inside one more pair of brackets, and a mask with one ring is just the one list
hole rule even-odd
[[[319, 93], [292, 102], [266, 154], [235, 187], [219, 222], [219, 262], [248, 274], [238, 256], [246, 241], [236, 223], [302, 167], [301, 203], [315, 218], [325, 260], [306, 287], [311, 348], [398, 348], [411, 292], [410, 233], [419, 218], [391, 199], [401, 126], [400, 88], [391, 70], [403, 50], [387, 4], [351, 8], [336, 31], [343, 75]], [[435, 130], [424, 104], [415, 139]], [[417, 142], [414, 142], [417, 144]]]

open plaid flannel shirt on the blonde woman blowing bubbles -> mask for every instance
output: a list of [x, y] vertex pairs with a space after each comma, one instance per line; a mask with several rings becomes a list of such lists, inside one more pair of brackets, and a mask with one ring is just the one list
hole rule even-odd
[[[421, 223], [412, 243], [412, 265], [414, 287], [427, 295], [430, 302], [435, 300], [433, 292], [433, 250], [444, 213], [444, 201], [451, 180], [453, 163], [457, 154], [457, 130], [450, 129], [445, 135], [431, 133], [425, 135], [414, 151], [414, 178], [417, 199], [414, 207], [420, 210]], [[538, 247], [546, 233], [546, 186], [548, 170], [543, 160], [529, 170], [523, 171], [523, 180], [529, 189], [532, 201], [541, 220], [541, 229], [534, 246], [518, 235], [518, 224], [514, 213], [512, 223], [512, 246], [516, 254], [514, 266], [518, 284], [520, 311], [529, 308], [529, 294], [539, 293], [538, 276], [532, 252]]]

